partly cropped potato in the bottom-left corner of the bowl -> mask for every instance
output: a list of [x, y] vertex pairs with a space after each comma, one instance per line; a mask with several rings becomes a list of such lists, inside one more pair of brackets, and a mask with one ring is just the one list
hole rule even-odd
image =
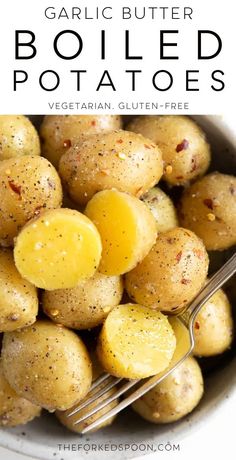
[[3, 374], [2, 361], [0, 360], [0, 426], [17, 426], [38, 417], [41, 408], [32, 404], [27, 399], [21, 398], [10, 387]]

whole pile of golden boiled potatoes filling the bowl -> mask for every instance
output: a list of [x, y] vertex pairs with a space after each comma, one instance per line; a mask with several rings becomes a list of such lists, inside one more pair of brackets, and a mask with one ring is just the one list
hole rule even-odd
[[[101, 373], [144, 379], [167, 369], [188, 346], [178, 314], [206, 283], [207, 251], [236, 243], [236, 178], [206, 174], [202, 129], [186, 116], [123, 123], [45, 116], [37, 132], [25, 116], [0, 116], [2, 426], [44, 408], [81, 432], [118, 403], [77, 425], [67, 418]], [[196, 357], [233, 339], [222, 290], [194, 328], [193, 356], [133, 404], [146, 420], [178, 420], [200, 401]]]

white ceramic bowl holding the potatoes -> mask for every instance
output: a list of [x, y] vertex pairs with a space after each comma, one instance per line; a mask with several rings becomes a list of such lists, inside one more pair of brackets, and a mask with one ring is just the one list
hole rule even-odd
[[[207, 132], [213, 151], [211, 169], [235, 174], [236, 171], [236, 136], [226, 118], [197, 116], [197, 122]], [[228, 257], [222, 252], [214, 264], [219, 265]], [[236, 401], [236, 356], [231, 356], [218, 365], [205, 380], [205, 394], [197, 409], [182, 421], [169, 425], [153, 425], [138, 417], [131, 409], [122, 413], [115, 423], [92, 435], [73, 434], [64, 429], [53, 415], [44, 414], [26, 426], [0, 430], [0, 445], [15, 452], [35, 458], [93, 460], [123, 460], [136, 458], [150, 453], [160, 443], [177, 443], [204, 424], [206, 419], [214, 417], [222, 405]], [[75, 451], [59, 450], [59, 444], [74, 445]], [[119, 445], [130, 444], [126, 451], [119, 450]], [[98, 450], [102, 445], [107, 451]], [[76, 447], [78, 446], [78, 447]], [[139, 446], [137, 448], [136, 446]], [[153, 446], [153, 447], [149, 447]], [[97, 450], [95, 450], [95, 448]], [[79, 449], [79, 450], [78, 450]]]

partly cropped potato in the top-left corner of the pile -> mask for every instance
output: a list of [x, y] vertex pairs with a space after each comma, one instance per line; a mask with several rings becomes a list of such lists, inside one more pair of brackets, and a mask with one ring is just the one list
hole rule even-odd
[[40, 155], [39, 136], [24, 115], [0, 115], [0, 160]]

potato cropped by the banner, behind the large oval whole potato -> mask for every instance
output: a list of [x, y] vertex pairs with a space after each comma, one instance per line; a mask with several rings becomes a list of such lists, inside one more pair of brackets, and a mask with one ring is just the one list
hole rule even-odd
[[119, 115], [46, 115], [40, 127], [42, 155], [57, 167], [61, 156], [75, 143], [120, 128]]

